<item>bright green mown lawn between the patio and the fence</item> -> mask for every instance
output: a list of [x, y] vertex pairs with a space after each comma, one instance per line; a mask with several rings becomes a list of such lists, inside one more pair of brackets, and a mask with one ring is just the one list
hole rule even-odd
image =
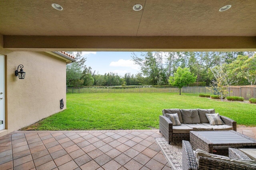
[[221, 102], [198, 94], [67, 94], [67, 109], [29, 128], [34, 130], [158, 129], [162, 109], [210, 109], [240, 125], [256, 126], [256, 105]]

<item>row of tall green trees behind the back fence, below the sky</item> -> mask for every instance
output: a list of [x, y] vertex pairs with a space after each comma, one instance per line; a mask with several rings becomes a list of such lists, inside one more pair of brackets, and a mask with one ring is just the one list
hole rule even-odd
[[142, 52], [131, 54], [134, 63], [140, 65], [137, 74], [120, 76], [109, 72], [97, 74], [86, 66], [86, 58], [80, 51], [68, 51], [76, 62], [67, 64], [67, 85], [71, 86], [125, 86], [125, 85], [166, 85], [178, 68], [188, 68], [196, 82], [210, 85], [215, 79], [211, 69], [224, 64], [230, 85], [256, 84], [255, 52]]

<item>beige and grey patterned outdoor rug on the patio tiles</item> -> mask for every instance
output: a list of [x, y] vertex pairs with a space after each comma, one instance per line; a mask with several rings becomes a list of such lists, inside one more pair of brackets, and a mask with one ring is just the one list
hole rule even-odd
[[169, 145], [164, 137], [157, 137], [155, 140], [172, 170], [182, 170], [182, 144]]

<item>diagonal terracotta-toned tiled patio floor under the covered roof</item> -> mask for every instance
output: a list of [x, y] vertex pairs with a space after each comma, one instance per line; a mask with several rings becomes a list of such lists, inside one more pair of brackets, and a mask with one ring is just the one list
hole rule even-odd
[[[256, 127], [238, 132], [256, 137]], [[156, 130], [15, 131], [0, 137], [0, 170], [167, 170]]]

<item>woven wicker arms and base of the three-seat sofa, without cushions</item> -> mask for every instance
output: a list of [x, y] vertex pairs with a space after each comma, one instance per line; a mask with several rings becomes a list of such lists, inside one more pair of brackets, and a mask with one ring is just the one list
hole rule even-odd
[[[182, 140], [190, 141], [189, 133], [173, 133], [172, 121], [170, 121], [168, 117], [164, 116], [164, 110], [162, 110], [162, 114], [163, 115], [159, 116], [159, 132], [164, 135], [169, 144], [171, 142], [181, 143]], [[232, 126], [233, 130], [236, 131], [236, 121], [221, 115], [220, 118], [226, 125]]]

